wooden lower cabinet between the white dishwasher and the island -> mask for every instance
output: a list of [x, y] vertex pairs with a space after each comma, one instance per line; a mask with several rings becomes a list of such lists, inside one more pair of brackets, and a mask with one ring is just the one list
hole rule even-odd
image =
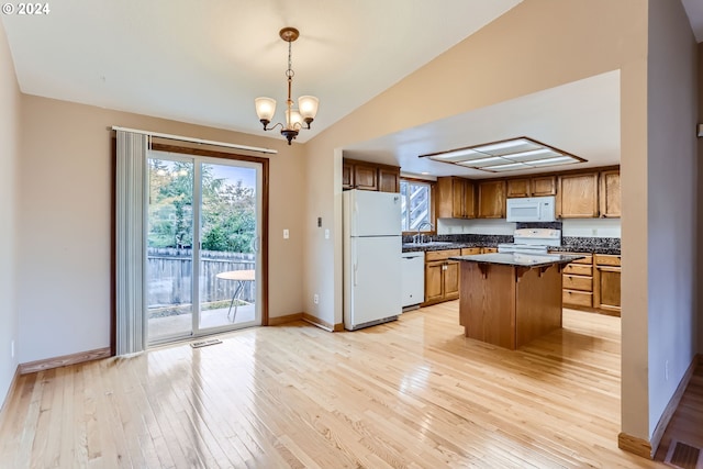
[[459, 298], [459, 263], [449, 257], [459, 256], [461, 249], [425, 253], [425, 302], [423, 305]]

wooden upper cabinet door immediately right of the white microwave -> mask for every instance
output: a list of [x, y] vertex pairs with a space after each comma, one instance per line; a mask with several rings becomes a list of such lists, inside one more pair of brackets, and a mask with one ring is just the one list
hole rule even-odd
[[598, 172], [559, 176], [557, 216], [598, 217]]

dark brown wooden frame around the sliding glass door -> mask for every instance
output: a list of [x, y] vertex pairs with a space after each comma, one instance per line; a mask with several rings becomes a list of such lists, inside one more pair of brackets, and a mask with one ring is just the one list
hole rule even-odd
[[[157, 152], [177, 153], [190, 156], [204, 156], [238, 161], [250, 161], [261, 165], [261, 325], [267, 326], [268, 317], [268, 232], [269, 232], [269, 159], [235, 153], [217, 152], [205, 148], [152, 142], [150, 149]], [[116, 309], [116, 138], [112, 138], [112, 196], [111, 196], [111, 230], [110, 230], [110, 355], [116, 355], [118, 340], [118, 309]]]

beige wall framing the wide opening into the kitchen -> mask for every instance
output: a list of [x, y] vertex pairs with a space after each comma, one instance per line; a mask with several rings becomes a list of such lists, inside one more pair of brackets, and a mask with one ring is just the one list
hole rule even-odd
[[[308, 146], [309, 219], [332, 220], [334, 243], [306, 227], [305, 309], [342, 317], [341, 154], [335, 149], [531, 92], [621, 70], [623, 167], [623, 428], [648, 438], [647, 0], [528, 0], [384, 91]], [[333, 281], [332, 281], [333, 279]], [[331, 298], [332, 297], [332, 298]]]

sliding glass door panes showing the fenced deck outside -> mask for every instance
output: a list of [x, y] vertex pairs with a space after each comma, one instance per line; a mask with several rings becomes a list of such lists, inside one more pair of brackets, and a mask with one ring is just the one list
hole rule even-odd
[[257, 163], [150, 152], [149, 344], [261, 323], [261, 185]]

